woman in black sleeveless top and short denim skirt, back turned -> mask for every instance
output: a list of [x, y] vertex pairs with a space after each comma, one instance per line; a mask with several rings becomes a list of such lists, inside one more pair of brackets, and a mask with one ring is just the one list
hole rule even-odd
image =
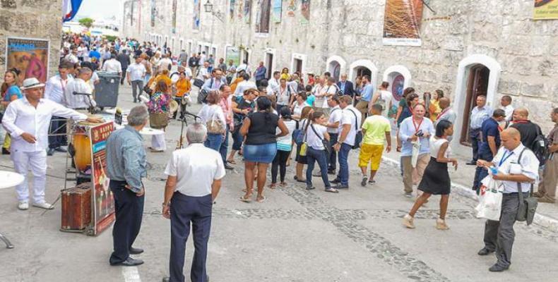
[[[244, 180], [246, 194], [240, 197], [242, 202], [251, 202], [254, 188], [254, 168], [257, 167], [258, 195], [256, 202], [263, 202], [263, 186], [266, 185], [266, 171], [277, 153], [277, 138], [289, 134], [282, 118], [272, 113], [271, 101], [266, 96], [258, 97], [258, 111], [248, 115], [242, 123], [240, 133], [246, 137], [244, 141]], [[277, 134], [276, 129], [280, 129]]]

